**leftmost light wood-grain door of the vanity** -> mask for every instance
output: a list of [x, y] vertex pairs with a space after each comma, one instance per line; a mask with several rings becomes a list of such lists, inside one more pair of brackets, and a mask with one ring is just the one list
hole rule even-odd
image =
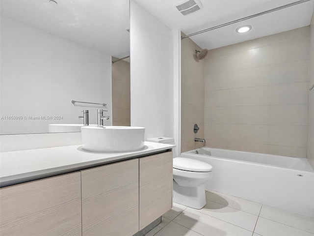
[[0, 189], [1, 236], [81, 236], [80, 172]]

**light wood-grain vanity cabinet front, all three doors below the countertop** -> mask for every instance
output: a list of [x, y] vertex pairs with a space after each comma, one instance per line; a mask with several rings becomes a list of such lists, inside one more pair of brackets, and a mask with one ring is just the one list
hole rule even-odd
[[172, 151], [0, 188], [1, 236], [133, 236], [172, 207]]

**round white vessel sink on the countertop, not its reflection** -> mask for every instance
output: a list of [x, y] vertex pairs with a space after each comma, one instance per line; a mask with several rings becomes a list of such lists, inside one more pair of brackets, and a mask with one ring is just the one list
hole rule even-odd
[[125, 152], [144, 148], [144, 127], [82, 126], [82, 149], [97, 152]]

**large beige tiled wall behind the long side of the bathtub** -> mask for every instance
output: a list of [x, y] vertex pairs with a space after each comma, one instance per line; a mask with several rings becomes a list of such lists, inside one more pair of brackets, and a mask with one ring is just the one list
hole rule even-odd
[[207, 146], [306, 157], [309, 45], [310, 27], [303, 27], [210, 50]]

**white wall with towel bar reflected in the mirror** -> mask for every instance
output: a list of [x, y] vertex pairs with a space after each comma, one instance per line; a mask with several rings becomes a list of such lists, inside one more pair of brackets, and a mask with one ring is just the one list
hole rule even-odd
[[[0, 73], [1, 117], [63, 117], [1, 119], [1, 134], [46, 133], [49, 123], [82, 123], [83, 108], [71, 100], [106, 103], [111, 116], [111, 56], [3, 16]], [[90, 123], [97, 123], [96, 109]]]

